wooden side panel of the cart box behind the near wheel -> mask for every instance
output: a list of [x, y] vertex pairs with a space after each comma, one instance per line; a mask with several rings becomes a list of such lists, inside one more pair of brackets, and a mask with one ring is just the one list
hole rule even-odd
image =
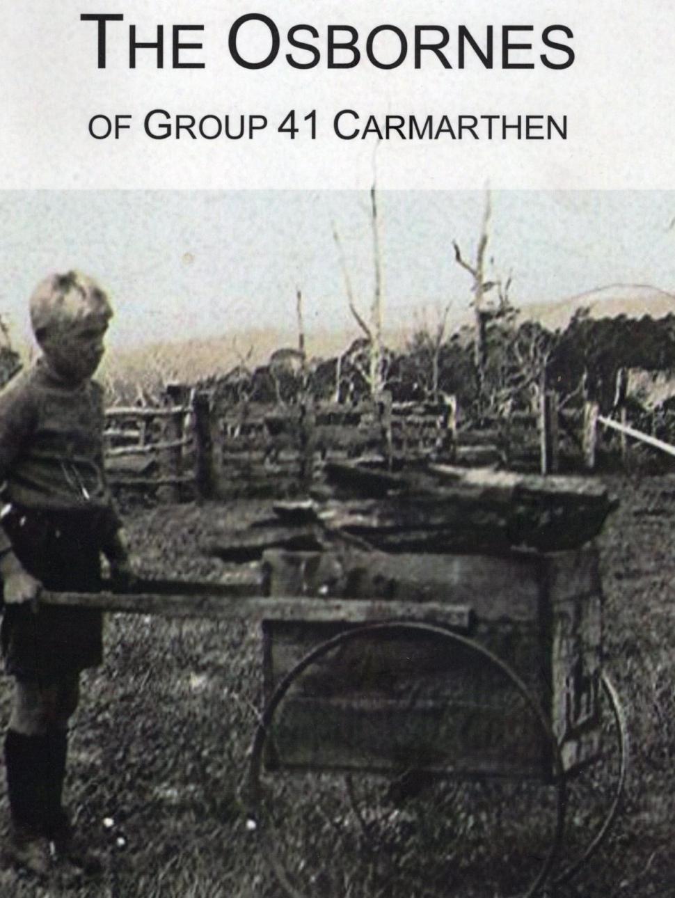
[[[355, 598], [384, 591], [392, 608], [403, 596], [448, 607], [466, 603], [474, 612], [471, 638], [545, 698], [542, 683], [550, 676], [541, 655], [541, 571], [534, 555], [268, 552], [266, 561], [273, 596], [277, 590], [340, 594], [348, 585]], [[345, 627], [345, 621], [266, 621], [267, 697], [312, 647]], [[549, 763], [539, 724], [504, 674], [447, 640], [379, 635], [350, 641], [311, 665], [280, 710], [276, 761], [286, 766], [414, 766], [532, 777]]]

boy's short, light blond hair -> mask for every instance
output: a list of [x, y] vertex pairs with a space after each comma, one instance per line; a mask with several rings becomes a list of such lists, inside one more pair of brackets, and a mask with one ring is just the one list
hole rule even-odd
[[30, 309], [38, 342], [53, 330], [83, 321], [107, 324], [112, 318], [105, 291], [79, 271], [49, 275], [40, 281], [31, 295]]

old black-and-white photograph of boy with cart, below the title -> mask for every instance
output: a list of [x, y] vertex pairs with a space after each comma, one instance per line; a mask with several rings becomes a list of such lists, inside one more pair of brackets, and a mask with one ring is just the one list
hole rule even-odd
[[670, 894], [673, 194], [3, 204], [3, 894]]

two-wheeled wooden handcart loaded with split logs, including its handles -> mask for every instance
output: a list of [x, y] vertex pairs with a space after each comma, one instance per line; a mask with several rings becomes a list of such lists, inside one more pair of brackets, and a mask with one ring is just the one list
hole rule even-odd
[[44, 600], [259, 618], [248, 826], [287, 894], [539, 894], [598, 849], [626, 775], [590, 539], [609, 499], [547, 480], [516, 501], [502, 478], [486, 504], [485, 482], [478, 500], [462, 480], [468, 504], [454, 490], [441, 520], [443, 489], [396, 495], [392, 482], [320, 524], [315, 507], [286, 506], [297, 519], [274, 534], [221, 540], [224, 557], [260, 557], [259, 578]]

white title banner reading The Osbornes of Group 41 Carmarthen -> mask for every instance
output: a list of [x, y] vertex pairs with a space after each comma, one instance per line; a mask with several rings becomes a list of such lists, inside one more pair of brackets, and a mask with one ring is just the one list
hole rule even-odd
[[671, 0], [23, 0], [0, 186], [671, 189]]

